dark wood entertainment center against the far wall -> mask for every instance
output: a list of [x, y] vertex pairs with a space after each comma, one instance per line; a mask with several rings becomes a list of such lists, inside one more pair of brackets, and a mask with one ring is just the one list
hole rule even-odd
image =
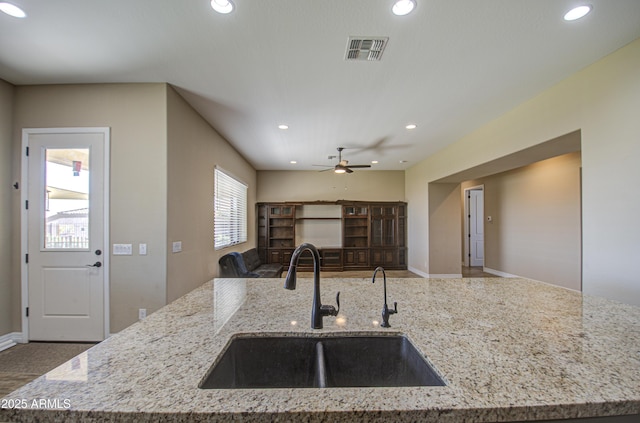
[[[327, 215], [313, 215], [313, 209], [335, 207]], [[367, 270], [407, 268], [407, 203], [367, 201], [278, 202], [257, 204], [258, 254], [264, 263], [289, 266], [293, 250], [301, 242], [296, 229], [325, 225], [338, 230], [331, 245], [316, 245], [322, 270]], [[327, 226], [328, 225], [328, 226]], [[315, 245], [315, 244], [314, 244]], [[300, 257], [299, 267], [311, 268], [310, 254]]]

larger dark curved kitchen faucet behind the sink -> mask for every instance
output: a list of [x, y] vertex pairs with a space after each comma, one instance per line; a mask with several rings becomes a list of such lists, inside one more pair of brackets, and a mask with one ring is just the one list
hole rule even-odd
[[284, 279], [284, 288], [290, 290], [296, 289], [298, 259], [305, 251], [310, 251], [313, 256], [313, 304], [311, 307], [311, 327], [313, 329], [322, 329], [322, 318], [324, 316], [338, 315], [338, 311], [340, 310], [340, 293], [338, 292], [338, 297], [336, 297], [336, 301], [338, 301], [337, 310], [334, 306], [323, 306], [320, 302], [320, 254], [313, 244], [309, 244], [308, 242], [302, 243], [293, 251], [293, 254], [291, 254], [289, 270], [287, 271], [287, 276]]

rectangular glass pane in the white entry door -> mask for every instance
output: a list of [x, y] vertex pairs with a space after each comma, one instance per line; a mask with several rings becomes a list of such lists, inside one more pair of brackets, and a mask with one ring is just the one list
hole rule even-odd
[[44, 248], [89, 249], [89, 149], [45, 151]]

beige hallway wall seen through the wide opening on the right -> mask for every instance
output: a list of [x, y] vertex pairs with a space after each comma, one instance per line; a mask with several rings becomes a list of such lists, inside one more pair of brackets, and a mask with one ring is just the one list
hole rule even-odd
[[581, 289], [581, 163], [565, 154], [462, 184], [484, 185], [485, 267]]

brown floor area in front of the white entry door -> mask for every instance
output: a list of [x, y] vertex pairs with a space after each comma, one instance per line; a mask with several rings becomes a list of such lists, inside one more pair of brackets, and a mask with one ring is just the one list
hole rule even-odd
[[0, 352], [0, 398], [95, 344], [30, 342]]

